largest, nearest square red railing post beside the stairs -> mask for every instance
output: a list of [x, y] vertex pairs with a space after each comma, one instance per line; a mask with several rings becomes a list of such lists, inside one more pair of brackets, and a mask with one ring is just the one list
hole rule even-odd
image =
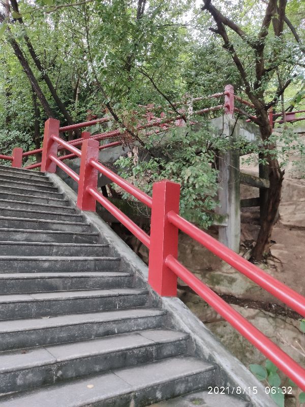
[[166, 265], [171, 254], [178, 256], [178, 228], [172, 225], [167, 214], [179, 212], [180, 185], [164, 180], [153, 185], [151, 208], [148, 283], [161, 296], [177, 295], [177, 276]]

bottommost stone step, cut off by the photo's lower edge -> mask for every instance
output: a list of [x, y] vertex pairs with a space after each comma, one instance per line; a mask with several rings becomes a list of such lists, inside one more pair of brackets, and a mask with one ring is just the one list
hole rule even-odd
[[[215, 388], [215, 391], [223, 391], [220, 386]], [[227, 392], [228, 389], [224, 388]], [[232, 391], [229, 388], [229, 391]], [[248, 401], [242, 400], [239, 397], [234, 397], [228, 394], [217, 394], [214, 391], [196, 391], [175, 397], [170, 400], [161, 401], [157, 404], [152, 404], [151, 407], [251, 407]]]

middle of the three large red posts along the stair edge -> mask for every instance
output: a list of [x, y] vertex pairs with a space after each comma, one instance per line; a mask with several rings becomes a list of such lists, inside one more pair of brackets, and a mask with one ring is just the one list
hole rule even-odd
[[89, 161], [91, 159], [98, 161], [99, 146], [99, 141], [91, 138], [82, 143], [77, 207], [83, 211], [96, 211], [96, 199], [87, 192], [87, 188], [98, 186], [98, 170], [90, 165]]

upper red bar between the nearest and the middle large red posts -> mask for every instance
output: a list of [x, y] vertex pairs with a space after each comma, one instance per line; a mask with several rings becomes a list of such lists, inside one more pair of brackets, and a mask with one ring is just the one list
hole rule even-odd
[[148, 208], [151, 208], [151, 206], [153, 205], [153, 199], [149, 195], [145, 194], [145, 192], [141, 191], [130, 182], [119, 177], [115, 172], [111, 171], [100, 162], [90, 160], [89, 163], [98, 171], [100, 171], [104, 176], [115, 182], [119, 187], [123, 188], [129, 194], [133, 195], [140, 202], [144, 203]]

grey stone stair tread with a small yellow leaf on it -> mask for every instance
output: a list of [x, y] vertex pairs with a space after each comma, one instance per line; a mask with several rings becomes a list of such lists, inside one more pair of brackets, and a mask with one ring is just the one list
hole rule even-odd
[[19, 397], [0, 401], [0, 406], [81, 407], [211, 370], [214, 370], [213, 365], [193, 357], [168, 358], [27, 391]]

